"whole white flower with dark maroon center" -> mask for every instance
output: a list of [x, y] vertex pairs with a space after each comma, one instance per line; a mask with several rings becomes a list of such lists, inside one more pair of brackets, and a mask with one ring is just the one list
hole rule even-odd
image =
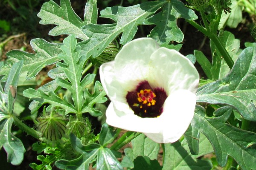
[[169, 143], [180, 139], [193, 118], [198, 71], [151, 38], [124, 45], [114, 61], [100, 67], [100, 78], [111, 100], [106, 111], [111, 126]]

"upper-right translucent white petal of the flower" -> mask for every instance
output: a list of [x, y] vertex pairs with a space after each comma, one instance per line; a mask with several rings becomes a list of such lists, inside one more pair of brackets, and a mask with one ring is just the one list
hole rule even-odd
[[196, 92], [199, 74], [192, 62], [178, 51], [159, 48], [151, 55], [148, 82], [153, 87], [162, 87], [167, 94], [178, 89]]

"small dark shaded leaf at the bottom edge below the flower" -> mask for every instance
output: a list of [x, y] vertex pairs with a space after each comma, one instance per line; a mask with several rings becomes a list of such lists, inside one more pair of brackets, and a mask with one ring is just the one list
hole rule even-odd
[[150, 160], [147, 156], [138, 156], [134, 159], [132, 170], [162, 170], [157, 160]]

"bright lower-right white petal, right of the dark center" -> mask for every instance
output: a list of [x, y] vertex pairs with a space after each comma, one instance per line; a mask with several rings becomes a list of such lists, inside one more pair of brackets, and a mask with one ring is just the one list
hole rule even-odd
[[196, 96], [190, 91], [178, 90], [172, 93], [164, 103], [161, 133], [145, 133], [150, 139], [158, 143], [176, 142], [194, 116]]

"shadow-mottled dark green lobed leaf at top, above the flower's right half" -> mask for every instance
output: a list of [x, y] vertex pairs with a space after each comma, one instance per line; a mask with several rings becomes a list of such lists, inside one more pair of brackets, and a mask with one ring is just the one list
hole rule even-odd
[[187, 20], [198, 19], [192, 9], [186, 8], [179, 0], [172, 0], [163, 6], [163, 11], [155, 14], [148, 19], [157, 25], [150, 32], [149, 37], [157, 40], [158, 44], [169, 44], [171, 41], [182, 42], [184, 35], [177, 26], [177, 19], [184, 18]]

